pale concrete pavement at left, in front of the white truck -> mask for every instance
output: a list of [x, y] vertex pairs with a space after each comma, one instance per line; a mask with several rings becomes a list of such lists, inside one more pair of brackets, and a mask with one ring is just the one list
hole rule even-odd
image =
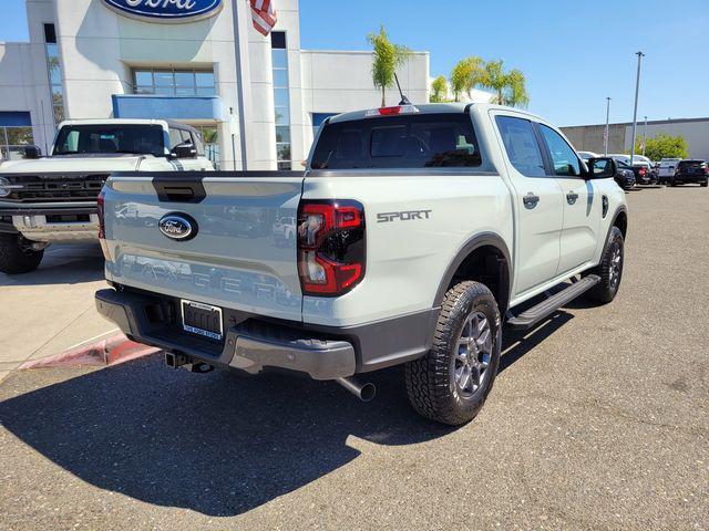
[[0, 381], [29, 360], [117, 333], [94, 306], [105, 285], [97, 244], [52, 246], [37, 271], [0, 273]]

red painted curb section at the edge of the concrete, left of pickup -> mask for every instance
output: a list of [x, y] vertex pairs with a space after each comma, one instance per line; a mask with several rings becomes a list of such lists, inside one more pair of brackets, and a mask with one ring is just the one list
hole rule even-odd
[[160, 348], [143, 345], [119, 334], [90, 345], [72, 348], [61, 354], [32, 360], [20, 365], [20, 368], [110, 366], [130, 362], [138, 357], [158, 352]]

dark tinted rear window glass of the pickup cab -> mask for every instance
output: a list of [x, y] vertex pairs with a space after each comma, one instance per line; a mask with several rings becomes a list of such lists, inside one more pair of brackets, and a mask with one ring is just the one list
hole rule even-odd
[[474, 167], [482, 159], [470, 116], [382, 116], [326, 125], [314, 169]]

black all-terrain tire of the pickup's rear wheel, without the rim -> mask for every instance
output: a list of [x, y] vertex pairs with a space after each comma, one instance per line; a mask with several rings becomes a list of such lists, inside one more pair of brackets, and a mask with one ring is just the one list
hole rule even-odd
[[[459, 340], [469, 317], [481, 314], [490, 327], [491, 344], [487, 348], [491, 352], [485, 368], [489, 373], [477, 389], [466, 395], [464, 389], [460, 389], [455, 376], [456, 363], [460, 363], [456, 362]], [[442, 424], [458, 426], [471, 421], [492, 389], [500, 365], [501, 343], [500, 311], [492, 292], [485, 285], [471, 281], [451, 288], [441, 306], [431, 350], [404, 366], [407, 393], [413, 408]]]

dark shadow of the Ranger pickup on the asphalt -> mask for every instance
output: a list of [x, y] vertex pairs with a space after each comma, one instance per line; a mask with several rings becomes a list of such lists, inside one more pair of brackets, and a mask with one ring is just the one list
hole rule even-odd
[[[500, 369], [569, 319], [507, 334]], [[345, 467], [360, 455], [352, 437], [400, 446], [455, 429], [411, 409], [398, 367], [371, 375], [378, 396], [369, 404], [332, 383], [196, 375], [164, 367], [160, 355], [51, 383], [63, 374], [11, 376], [0, 425], [94, 487], [214, 517], [247, 512]]]

